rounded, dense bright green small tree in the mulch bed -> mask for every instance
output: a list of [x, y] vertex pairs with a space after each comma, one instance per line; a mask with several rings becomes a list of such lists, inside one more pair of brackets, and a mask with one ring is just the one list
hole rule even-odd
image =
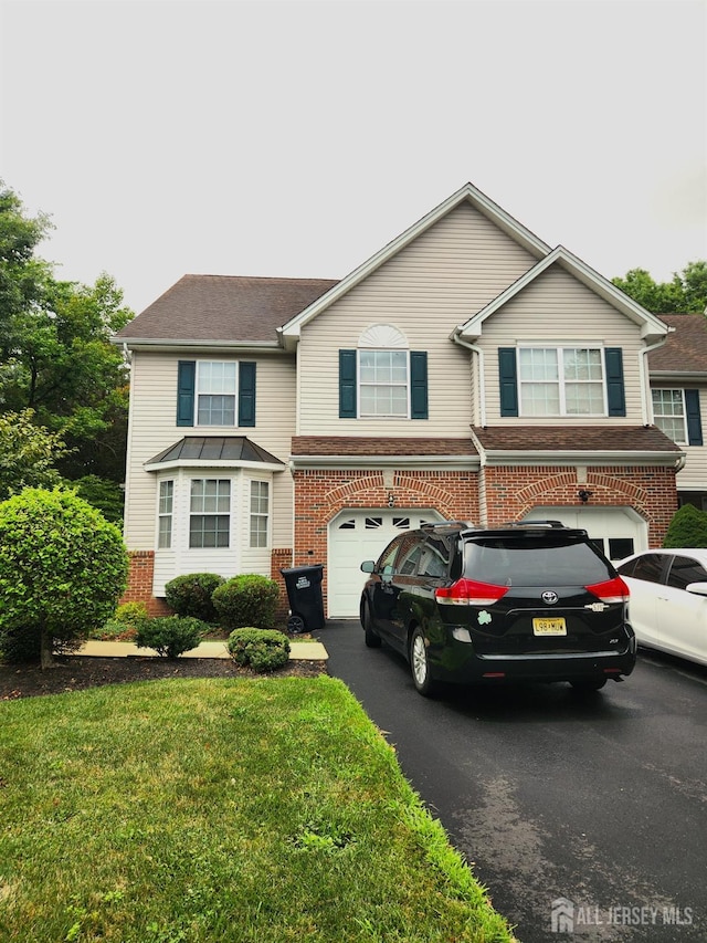
[[10, 497], [0, 504], [0, 647], [36, 638], [51, 667], [56, 643], [86, 638], [114, 614], [127, 572], [118, 528], [73, 491]]

